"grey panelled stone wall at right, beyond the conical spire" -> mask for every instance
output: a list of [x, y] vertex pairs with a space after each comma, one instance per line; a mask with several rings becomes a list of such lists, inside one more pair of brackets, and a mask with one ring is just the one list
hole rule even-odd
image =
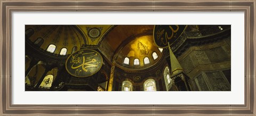
[[231, 91], [231, 41], [190, 47], [178, 57], [194, 91]]

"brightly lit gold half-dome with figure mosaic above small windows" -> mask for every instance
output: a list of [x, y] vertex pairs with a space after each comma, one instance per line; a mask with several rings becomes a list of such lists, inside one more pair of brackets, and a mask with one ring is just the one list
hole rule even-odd
[[[155, 59], [153, 58], [153, 53], [155, 54]], [[143, 68], [146, 66], [151, 66], [156, 63], [158, 59], [161, 58], [162, 53], [155, 46], [153, 35], [143, 35], [135, 40], [132, 40], [126, 46], [124, 46], [117, 55], [116, 62], [119, 65], [125, 67], [138, 67]], [[124, 59], [129, 58], [129, 63], [124, 64]], [[145, 63], [145, 58], [148, 58], [149, 63]], [[134, 65], [134, 60], [139, 59], [139, 65]]]

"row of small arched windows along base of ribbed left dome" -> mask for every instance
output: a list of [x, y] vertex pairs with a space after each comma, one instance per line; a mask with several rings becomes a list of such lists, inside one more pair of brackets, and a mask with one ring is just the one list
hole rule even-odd
[[[35, 43], [37, 46], [40, 47], [40, 46], [43, 44], [43, 42], [44, 42], [44, 40], [43, 40], [42, 38], [37, 38], [34, 43]], [[50, 45], [48, 46], [48, 48], [46, 49], [46, 51], [53, 53], [53, 52], [55, 51], [55, 49], [56, 49], [56, 46], [55, 46], [54, 44], [50, 44]], [[76, 47], [76, 46], [73, 47], [72, 53], [74, 53], [76, 50], [77, 50], [77, 47]], [[67, 51], [68, 51], [67, 48], [62, 48], [62, 49], [60, 50], [60, 55], [66, 55], [66, 54], [67, 54]]]

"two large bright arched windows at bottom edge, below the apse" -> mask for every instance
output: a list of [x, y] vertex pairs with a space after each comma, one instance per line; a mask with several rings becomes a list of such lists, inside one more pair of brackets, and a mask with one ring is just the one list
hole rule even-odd
[[[156, 91], [156, 82], [154, 79], [147, 79], [143, 86], [144, 91]], [[122, 83], [122, 91], [132, 91], [132, 83], [130, 81], [124, 81]]]

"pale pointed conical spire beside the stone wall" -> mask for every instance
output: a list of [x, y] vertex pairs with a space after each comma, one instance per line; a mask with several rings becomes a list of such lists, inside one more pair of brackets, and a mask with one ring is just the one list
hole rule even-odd
[[181, 67], [178, 59], [174, 56], [170, 44], [168, 42], [168, 47], [170, 51], [170, 60], [171, 60], [171, 75], [177, 75], [183, 72], [183, 68]]

